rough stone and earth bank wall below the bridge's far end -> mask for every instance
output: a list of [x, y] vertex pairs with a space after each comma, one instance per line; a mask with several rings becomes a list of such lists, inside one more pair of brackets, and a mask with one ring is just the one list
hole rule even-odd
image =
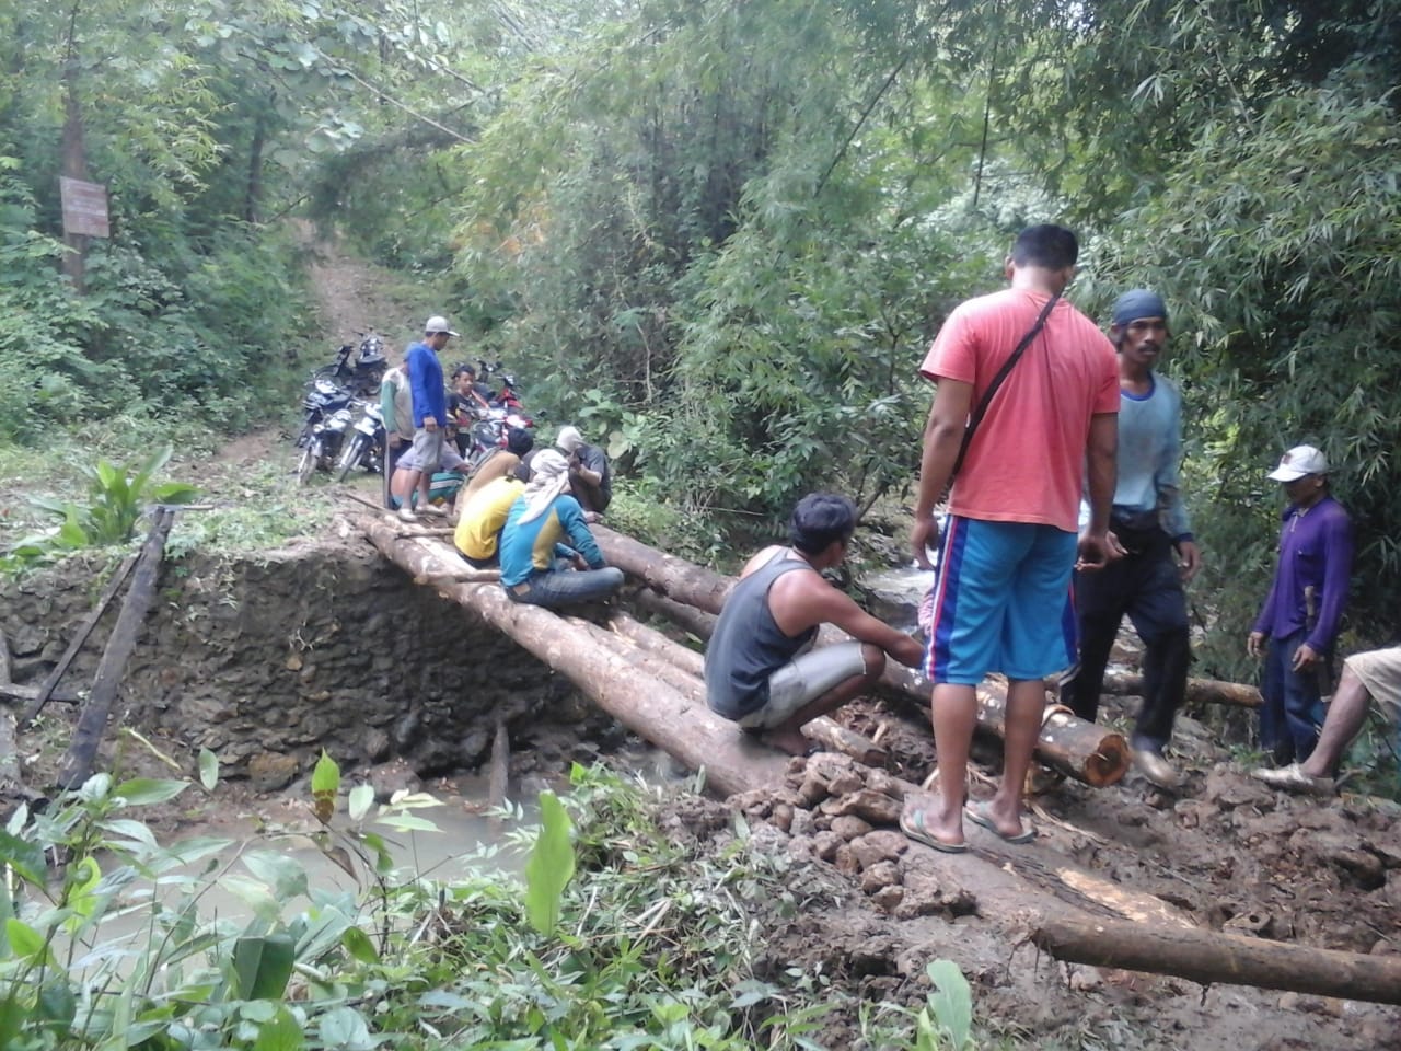
[[[108, 569], [80, 556], [0, 583], [17, 682], [38, 684], [55, 666]], [[116, 603], [64, 688], [91, 684], [115, 619]], [[207, 747], [226, 776], [276, 789], [322, 748], [345, 768], [389, 758], [419, 776], [472, 768], [489, 754], [497, 717], [518, 746], [542, 722], [579, 722], [591, 706], [509, 638], [350, 537], [168, 562], [116, 713], [184, 748], [177, 758], [191, 768]]]

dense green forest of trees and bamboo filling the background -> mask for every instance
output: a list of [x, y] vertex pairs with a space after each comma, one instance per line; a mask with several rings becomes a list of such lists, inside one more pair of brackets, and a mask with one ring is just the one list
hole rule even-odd
[[[0, 432], [80, 404], [231, 426], [290, 390], [290, 219], [406, 273], [692, 544], [796, 495], [899, 499], [958, 300], [1017, 228], [1082, 237], [1094, 317], [1171, 312], [1194, 589], [1226, 674], [1310, 441], [1391, 631], [1401, 7], [1264, 0], [87, 0], [0, 14]], [[63, 256], [59, 175], [113, 235]], [[71, 255], [71, 254], [69, 254]], [[1366, 629], [1358, 625], [1367, 625]], [[1380, 625], [1380, 626], [1373, 626]]]

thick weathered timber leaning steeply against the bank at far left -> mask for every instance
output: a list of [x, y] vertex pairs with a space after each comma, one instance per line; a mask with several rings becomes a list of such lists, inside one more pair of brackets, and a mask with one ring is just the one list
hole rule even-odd
[[102, 743], [102, 733], [106, 730], [106, 720], [112, 712], [112, 702], [116, 691], [122, 685], [122, 671], [126, 667], [132, 650], [136, 649], [136, 636], [140, 633], [146, 614], [151, 608], [156, 597], [156, 582], [161, 572], [161, 558], [165, 554], [165, 538], [170, 535], [171, 524], [175, 521], [172, 507], [157, 507], [151, 531], [146, 535], [142, 554], [136, 559], [136, 569], [132, 575], [132, 590], [126, 593], [122, 608], [116, 615], [116, 625], [112, 628], [112, 638], [106, 642], [102, 660], [97, 667], [97, 677], [92, 681], [92, 691], [87, 703], [78, 715], [77, 727], [73, 730], [73, 740], [63, 755], [59, 768], [59, 785], [66, 789], [76, 789], [92, 772], [92, 761], [97, 758], [98, 746]]

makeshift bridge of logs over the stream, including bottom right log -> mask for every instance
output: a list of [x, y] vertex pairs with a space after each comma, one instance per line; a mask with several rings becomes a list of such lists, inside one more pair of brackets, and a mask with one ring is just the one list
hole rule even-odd
[[[469, 615], [511, 636], [551, 668], [570, 678], [633, 733], [663, 748], [722, 796], [792, 793], [803, 760], [792, 760], [715, 716], [705, 703], [700, 654], [678, 638], [709, 636], [733, 579], [657, 551], [604, 527], [594, 537], [609, 565], [629, 577], [622, 608], [604, 622], [511, 603], [489, 575], [471, 570], [441, 531], [419, 530], [385, 513], [350, 513], [352, 524], [416, 583], [437, 590]], [[630, 610], [630, 611], [629, 611]], [[663, 621], [667, 631], [635, 617]], [[846, 638], [825, 628], [818, 645]], [[927, 712], [930, 684], [909, 668], [888, 664], [883, 688]], [[1198, 696], [1213, 699], [1213, 688]], [[1229, 685], [1229, 684], [1227, 684]], [[1216, 689], [1220, 694], [1222, 691]], [[1250, 703], [1238, 694], [1224, 703]], [[979, 727], [1000, 737], [1005, 688], [978, 691]], [[810, 736], [859, 767], [870, 783], [895, 799], [922, 792], [884, 771], [878, 740], [829, 719]], [[499, 729], [497, 736], [503, 736]], [[1037, 743], [1037, 760], [1084, 785], [1117, 783], [1129, 765], [1124, 739], [1052, 708]], [[857, 793], [862, 795], [862, 793]], [[892, 825], [898, 806], [876, 807]], [[869, 816], [869, 811], [867, 811]], [[887, 834], [888, 835], [888, 834]], [[904, 863], [916, 863], [940, 886], [976, 888], [976, 911], [1019, 942], [1030, 942], [1068, 963], [1166, 974], [1202, 984], [1240, 984], [1345, 999], [1401, 1005], [1401, 957], [1367, 956], [1265, 942], [1201, 928], [1175, 905], [1110, 883], [1054, 851], [1045, 841], [1024, 848], [968, 828], [972, 849], [961, 855], [902, 842]]]

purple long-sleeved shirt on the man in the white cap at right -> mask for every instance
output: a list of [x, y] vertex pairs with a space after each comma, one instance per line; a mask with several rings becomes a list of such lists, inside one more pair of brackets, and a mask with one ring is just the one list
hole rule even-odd
[[[1351, 573], [1352, 523], [1342, 504], [1331, 496], [1304, 510], [1289, 504], [1279, 530], [1275, 583], [1269, 586], [1254, 631], [1283, 639], [1309, 628], [1304, 642], [1316, 653], [1331, 650], [1348, 601]], [[1313, 589], [1316, 622], [1307, 615], [1306, 587]]]

